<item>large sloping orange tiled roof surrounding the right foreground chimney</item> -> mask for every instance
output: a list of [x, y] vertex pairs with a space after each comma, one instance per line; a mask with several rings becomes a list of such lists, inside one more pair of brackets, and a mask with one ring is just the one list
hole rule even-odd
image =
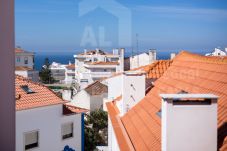
[[[159, 94], [178, 93], [182, 90], [189, 93], [213, 93], [219, 96], [219, 129], [226, 124], [227, 58], [205, 57], [183, 51], [154, 83], [154, 88], [120, 120], [135, 150], [161, 150], [161, 120], [156, 114], [161, 109]], [[108, 111], [112, 112], [109, 108]], [[111, 114], [109, 113], [110, 116]], [[223, 131], [226, 134], [226, 126]], [[226, 143], [225, 141], [223, 146]]]

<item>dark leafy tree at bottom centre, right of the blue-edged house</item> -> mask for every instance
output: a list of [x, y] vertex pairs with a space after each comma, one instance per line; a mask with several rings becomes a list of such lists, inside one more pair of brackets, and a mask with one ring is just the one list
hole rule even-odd
[[93, 151], [96, 146], [107, 145], [107, 112], [99, 109], [85, 118], [85, 151]]

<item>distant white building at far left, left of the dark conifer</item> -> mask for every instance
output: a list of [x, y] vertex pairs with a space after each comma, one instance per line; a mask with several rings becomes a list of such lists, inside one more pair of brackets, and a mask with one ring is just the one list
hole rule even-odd
[[34, 68], [34, 53], [20, 47], [15, 49], [15, 73], [34, 82], [39, 81], [39, 72]]

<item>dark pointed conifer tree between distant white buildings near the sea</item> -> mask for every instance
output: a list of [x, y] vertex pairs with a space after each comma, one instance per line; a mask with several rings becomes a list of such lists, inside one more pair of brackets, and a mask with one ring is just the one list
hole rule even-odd
[[49, 69], [50, 63], [49, 59], [45, 58], [44, 64], [42, 66], [41, 71], [39, 72], [39, 77], [42, 83], [51, 84], [54, 83], [54, 78], [51, 75], [51, 71]]

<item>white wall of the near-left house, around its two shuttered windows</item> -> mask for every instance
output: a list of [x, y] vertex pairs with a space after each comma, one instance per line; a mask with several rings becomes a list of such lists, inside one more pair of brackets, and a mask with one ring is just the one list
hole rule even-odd
[[[73, 137], [62, 139], [62, 125], [73, 123]], [[63, 115], [62, 105], [16, 112], [16, 151], [24, 151], [25, 134], [38, 131], [38, 147], [32, 151], [62, 151], [66, 145], [82, 149], [81, 114]]]

